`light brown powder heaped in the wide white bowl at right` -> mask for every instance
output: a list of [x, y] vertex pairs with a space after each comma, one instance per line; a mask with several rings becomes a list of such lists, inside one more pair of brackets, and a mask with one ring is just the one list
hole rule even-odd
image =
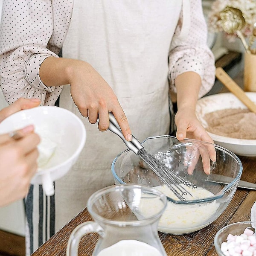
[[204, 116], [212, 134], [236, 139], [256, 140], [256, 114], [248, 109], [233, 108], [207, 113]]

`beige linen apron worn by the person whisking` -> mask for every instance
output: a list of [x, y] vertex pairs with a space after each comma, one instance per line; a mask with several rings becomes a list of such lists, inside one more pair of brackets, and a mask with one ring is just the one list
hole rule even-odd
[[[111, 85], [135, 137], [168, 134], [168, 54], [180, 0], [75, 0], [64, 58], [90, 63]], [[177, 11], [178, 10], [178, 11]], [[87, 140], [72, 170], [55, 183], [56, 232], [86, 207], [90, 195], [114, 184], [113, 159], [125, 144], [81, 116], [64, 86], [60, 106], [83, 120]]]

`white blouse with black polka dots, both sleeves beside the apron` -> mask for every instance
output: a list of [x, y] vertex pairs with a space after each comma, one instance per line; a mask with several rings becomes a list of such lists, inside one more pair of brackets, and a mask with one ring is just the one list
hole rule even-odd
[[[78, 1], [78, 0], [77, 0]], [[84, 1], [84, 0], [83, 0]], [[201, 76], [199, 97], [215, 79], [214, 57], [207, 47], [207, 26], [201, 0], [184, 4], [169, 53], [169, 80], [186, 71]], [[58, 57], [70, 23], [73, 0], [4, 0], [0, 25], [0, 85], [9, 103], [20, 97], [37, 97], [54, 105], [61, 86], [47, 87], [39, 68], [45, 58]], [[198, 13], [200, 15], [198, 15]]]

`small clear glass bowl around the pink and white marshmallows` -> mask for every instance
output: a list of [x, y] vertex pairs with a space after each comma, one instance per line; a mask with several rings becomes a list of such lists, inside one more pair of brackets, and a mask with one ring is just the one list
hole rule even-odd
[[253, 232], [255, 232], [254, 228], [252, 227], [251, 221], [236, 222], [233, 224], [229, 224], [219, 230], [214, 237], [214, 246], [216, 252], [218, 253], [218, 256], [225, 256], [225, 254], [221, 251], [221, 244], [227, 241], [228, 234], [231, 234], [233, 236], [240, 236], [246, 228], [249, 228], [250, 230], [253, 230]]

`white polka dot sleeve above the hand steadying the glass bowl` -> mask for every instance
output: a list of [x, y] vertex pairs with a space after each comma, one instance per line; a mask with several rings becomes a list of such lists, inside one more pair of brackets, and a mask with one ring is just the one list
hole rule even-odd
[[[215, 59], [207, 47], [207, 24], [201, 0], [191, 0], [188, 12], [185, 9], [181, 14], [172, 40], [169, 54], [169, 78], [171, 90], [176, 93], [175, 78], [178, 75], [187, 71], [198, 73], [202, 81], [198, 97], [202, 97], [214, 84]], [[183, 30], [182, 36], [180, 36], [181, 30]]]

